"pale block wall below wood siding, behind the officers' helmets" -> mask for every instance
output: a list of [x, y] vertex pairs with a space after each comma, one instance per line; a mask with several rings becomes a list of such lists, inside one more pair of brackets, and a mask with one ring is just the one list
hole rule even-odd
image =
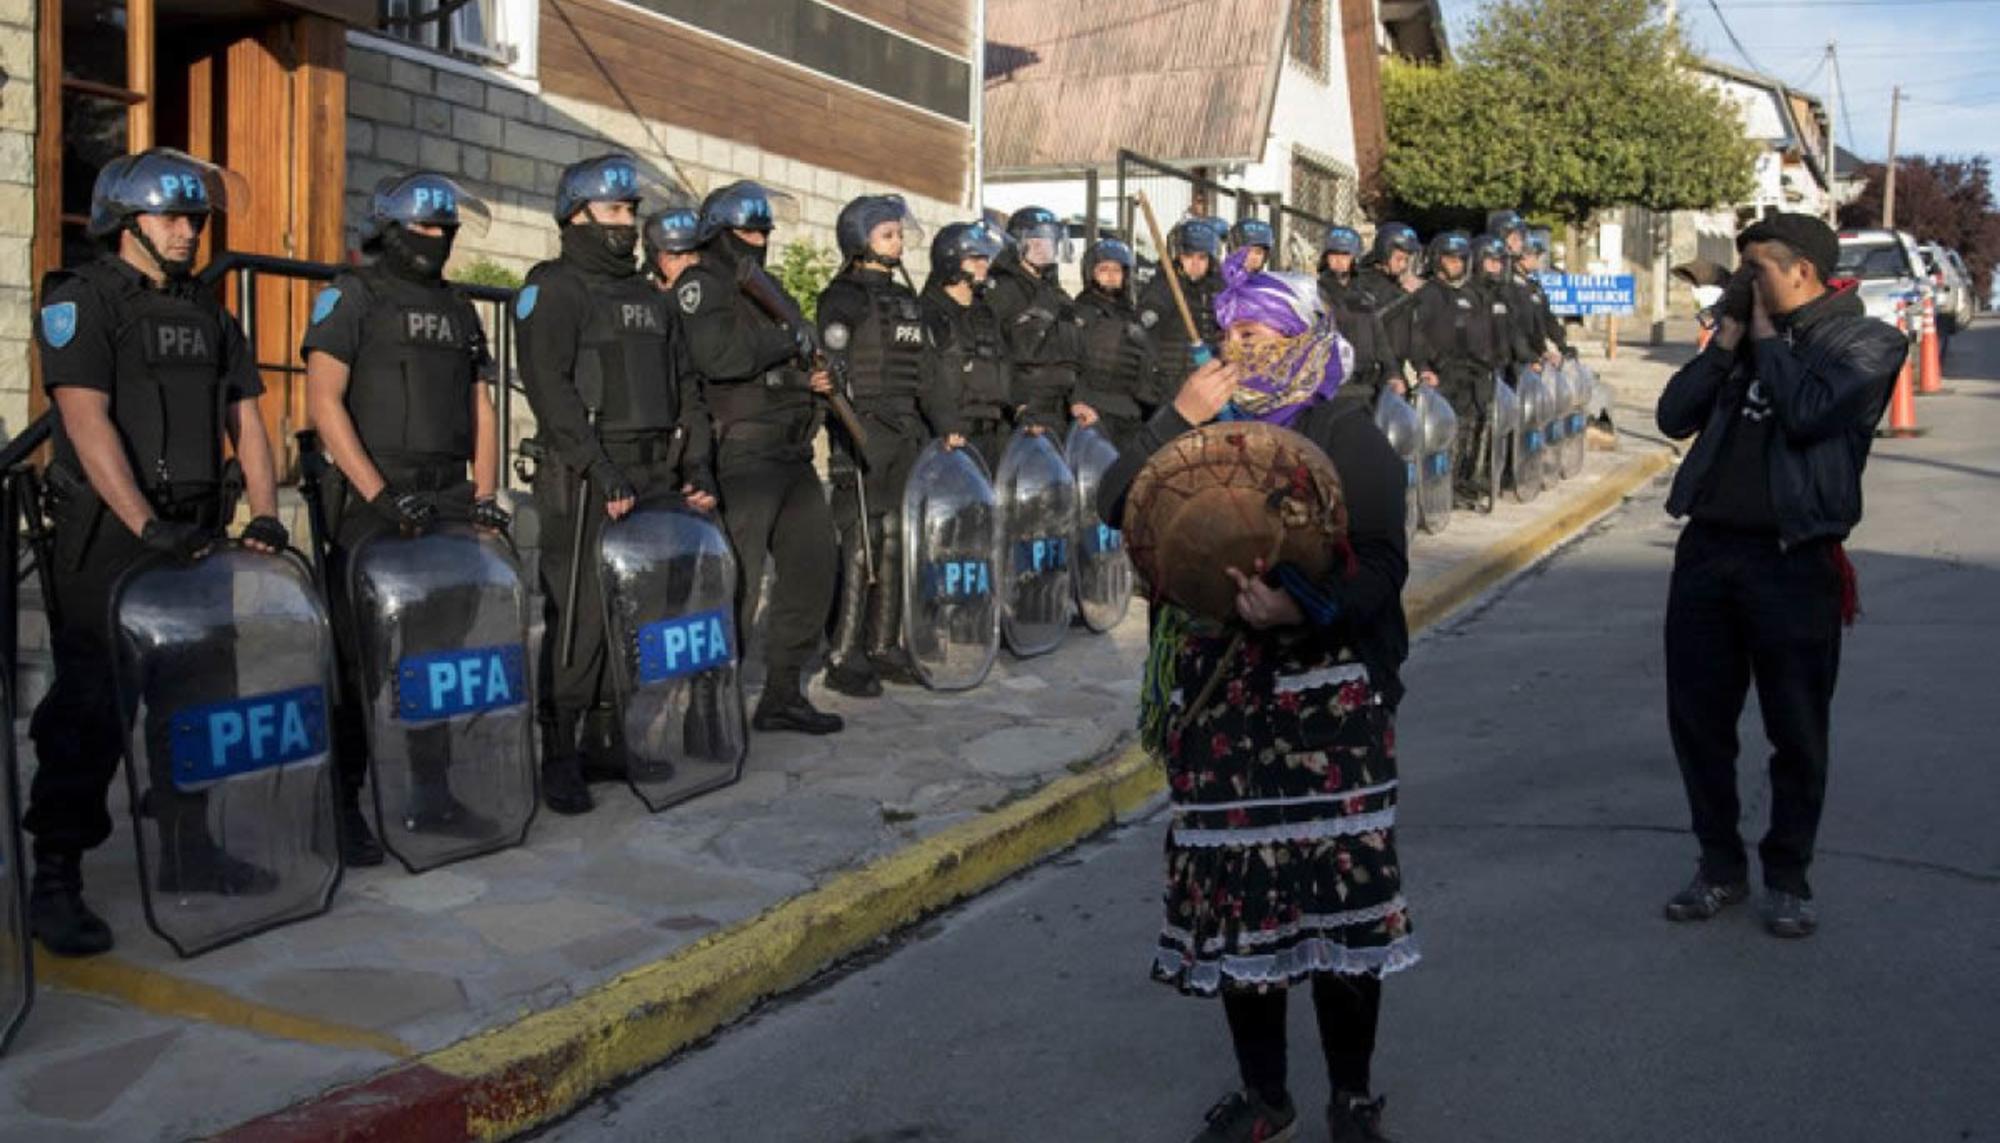
[[[552, 206], [562, 168], [606, 150], [628, 150], [658, 174], [686, 172], [704, 190], [754, 178], [798, 196], [800, 224], [780, 224], [780, 244], [806, 240], [830, 248], [842, 204], [862, 194], [900, 190], [674, 124], [644, 122], [624, 108], [544, 96], [532, 84], [498, 72], [442, 58], [420, 62], [400, 46], [360, 36], [350, 40], [350, 246], [360, 242], [368, 192], [382, 176], [432, 168], [460, 178], [494, 214], [488, 234], [460, 236], [454, 266], [490, 258], [524, 272], [556, 254]], [[910, 206], [930, 234], [970, 216], [964, 204], [912, 196]], [[910, 270], [922, 282], [928, 246], [910, 254]]]

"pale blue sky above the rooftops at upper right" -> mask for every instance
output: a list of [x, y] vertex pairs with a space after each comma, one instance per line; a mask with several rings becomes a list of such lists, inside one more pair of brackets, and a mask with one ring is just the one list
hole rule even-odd
[[[2000, 0], [1678, 0], [1698, 52], [1828, 96], [1826, 42], [1838, 42], [1840, 146], [1888, 152], [1890, 92], [1904, 86], [1900, 154], [1984, 154], [2000, 166]], [[1452, 42], [1484, 6], [1440, 0]], [[1720, 18], [1716, 10], [1720, 8]], [[1750, 60], [1730, 44], [1724, 22]]]

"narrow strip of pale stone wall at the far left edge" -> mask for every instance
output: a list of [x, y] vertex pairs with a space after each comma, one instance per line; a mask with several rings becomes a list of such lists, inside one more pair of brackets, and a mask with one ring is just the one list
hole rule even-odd
[[36, 4], [0, 0], [0, 440], [28, 424]]

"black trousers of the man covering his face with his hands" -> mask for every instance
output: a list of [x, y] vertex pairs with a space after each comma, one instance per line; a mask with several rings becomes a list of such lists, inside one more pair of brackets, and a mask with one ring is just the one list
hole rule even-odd
[[1770, 737], [1764, 885], [1810, 897], [1806, 869], [1826, 801], [1828, 723], [1840, 673], [1844, 579], [1830, 542], [1688, 524], [1666, 597], [1666, 717], [1710, 881], [1742, 881], [1736, 721], [1756, 681]]

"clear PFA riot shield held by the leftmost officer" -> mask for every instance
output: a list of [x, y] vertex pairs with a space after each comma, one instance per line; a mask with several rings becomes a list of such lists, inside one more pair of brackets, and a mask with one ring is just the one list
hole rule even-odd
[[146, 923], [192, 957], [326, 911], [334, 653], [306, 564], [238, 546], [148, 564], [110, 615]]

